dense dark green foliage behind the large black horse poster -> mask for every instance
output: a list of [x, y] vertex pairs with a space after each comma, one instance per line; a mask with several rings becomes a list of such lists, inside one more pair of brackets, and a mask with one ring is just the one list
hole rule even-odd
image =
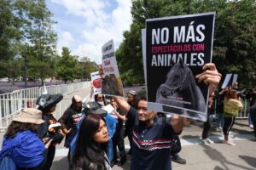
[[223, 75], [239, 74], [239, 82], [256, 82], [256, 3], [254, 0], [133, 0], [130, 31], [116, 51], [124, 84], [143, 83], [141, 29], [145, 20], [181, 14], [216, 12], [212, 61]]

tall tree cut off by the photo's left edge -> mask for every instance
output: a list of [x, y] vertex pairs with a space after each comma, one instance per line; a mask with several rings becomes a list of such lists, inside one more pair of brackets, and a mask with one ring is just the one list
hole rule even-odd
[[20, 20], [13, 14], [13, 1], [0, 1], [0, 77], [13, 80], [20, 77]]

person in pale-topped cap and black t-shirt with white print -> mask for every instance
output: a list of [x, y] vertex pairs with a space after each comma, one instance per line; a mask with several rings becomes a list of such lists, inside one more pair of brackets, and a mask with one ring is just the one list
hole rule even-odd
[[[67, 108], [58, 122], [61, 123], [62, 131], [66, 134], [65, 144], [66, 148], [70, 147], [70, 143], [78, 132], [77, 125], [82, 119], [82, 98], [79, 95], [74, 95], [72, 104]], [[69, 158], [70, 150], [68, 151]], [[68, 162], [70, 160], [68, 159]]]

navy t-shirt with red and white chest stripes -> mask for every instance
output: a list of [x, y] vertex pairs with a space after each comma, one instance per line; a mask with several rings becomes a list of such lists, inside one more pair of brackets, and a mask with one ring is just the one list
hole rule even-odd
[[139, 122], [137, 110], [128, 112], [133, 120], [131, 170], [171, 170], [172, 139], [175, 133], [170, 118], [154, 117], [154, 124], [145, 127]]

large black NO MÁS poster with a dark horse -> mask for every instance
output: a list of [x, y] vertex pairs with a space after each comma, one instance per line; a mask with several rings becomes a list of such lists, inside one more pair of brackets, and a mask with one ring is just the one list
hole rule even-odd
[[207, 120], [208, 87], [195, 75], [212, 61], [214, 19], [206, 13], [146, 20], [149, 110]]

